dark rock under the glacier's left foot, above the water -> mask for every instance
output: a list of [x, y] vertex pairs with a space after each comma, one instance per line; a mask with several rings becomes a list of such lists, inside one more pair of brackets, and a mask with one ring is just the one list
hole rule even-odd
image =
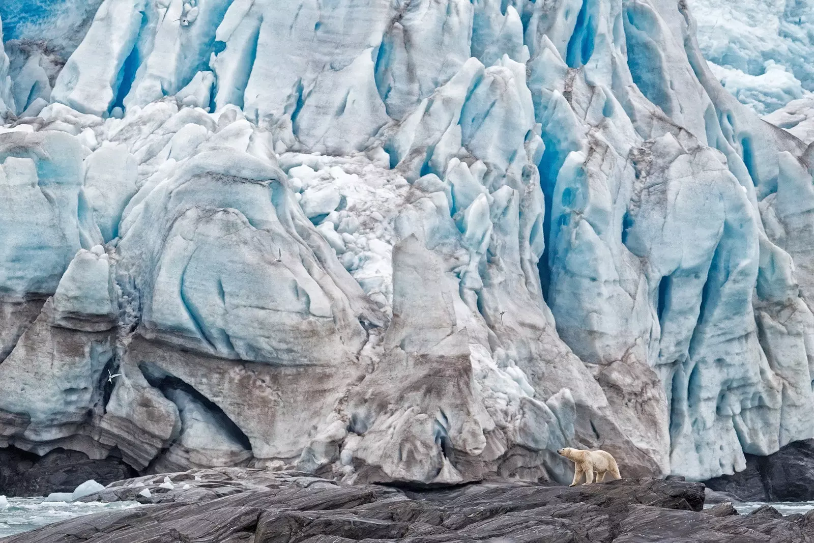
[[91, 460], [85, 453], [55, 449], [42, 458], [14, 447], [0, 449], [0, 494], [15, 497], [72, 492], [87, 480], [127, 479], [135, 471], [120, 458]]

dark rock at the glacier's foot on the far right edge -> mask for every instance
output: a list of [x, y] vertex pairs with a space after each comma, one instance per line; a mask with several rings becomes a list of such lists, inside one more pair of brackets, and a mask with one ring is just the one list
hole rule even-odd
[[746, 470], [705, 484], [741, 501], [814, 500], [814, 440], [795, 441], [765, 457], [747, 455]]

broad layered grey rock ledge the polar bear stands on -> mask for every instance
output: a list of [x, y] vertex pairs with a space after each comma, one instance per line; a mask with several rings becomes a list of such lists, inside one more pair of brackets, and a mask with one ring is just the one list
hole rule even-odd
[[52, 524], [4, 543], [351, 541], [725, 541], [810, 543], [814, 517], [702, 511], [702, 484], [616, 480], [575, 488], [520, 481], [443, 489], [345, 486], [308, 473], [225, 468], [140, 477], [83, 501], [151, 504]]

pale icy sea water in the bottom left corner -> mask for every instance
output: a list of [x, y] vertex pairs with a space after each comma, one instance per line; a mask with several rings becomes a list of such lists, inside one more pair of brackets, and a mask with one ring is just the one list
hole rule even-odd
[[117, 501], [115, 503], [74, 501], [45, 501], [44, 497], [10, 497], [0, 496], [0, 538], [13, 536], [15, 533], [28, 532], [46, 524], [72, 519], [81, 515], [90, 515], [108, 510], [130, 509], [138, 507], [137, 501]]

